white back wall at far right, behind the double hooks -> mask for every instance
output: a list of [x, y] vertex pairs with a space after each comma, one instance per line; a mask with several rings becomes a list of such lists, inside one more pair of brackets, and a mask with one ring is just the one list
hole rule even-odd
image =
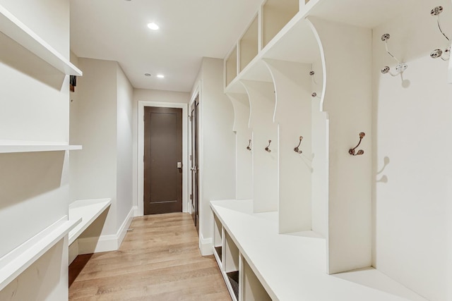
[[[441, 25], [452, 35], [451, 1], [419, 1], [409, 13], [374, 29], [374, 257], [373, 264], [428, 300], [452, 300], [450, 235], [452, 85], [448, 62], [430, 51], [448, 42], [439, 32], [434, 6], [444, 6]], [[400, 77], [381, 42], [408, 63]], [[385, 162], [387, 164], [385, 164]], [[449, 262], [450, 263], [450, 262]]]

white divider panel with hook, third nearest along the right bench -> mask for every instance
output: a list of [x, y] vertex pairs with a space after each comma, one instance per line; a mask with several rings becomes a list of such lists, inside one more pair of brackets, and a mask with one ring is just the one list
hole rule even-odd
[[[278, 211], [278, 126], [273, 123], [273, 82], [243, 80], [242, 84], [251, 108], [254, 212]], [[265, 150], [268, 140], [272, 141], [271, 152]]]

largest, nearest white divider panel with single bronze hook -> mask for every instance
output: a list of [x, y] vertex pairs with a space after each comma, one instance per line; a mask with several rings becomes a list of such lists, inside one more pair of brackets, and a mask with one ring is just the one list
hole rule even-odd
[[[323, 61], [329, 122], [328, 273], [371, 266], [371, 30], [309, 18]], [[366, 133], [351, 156], [359, 132]]]

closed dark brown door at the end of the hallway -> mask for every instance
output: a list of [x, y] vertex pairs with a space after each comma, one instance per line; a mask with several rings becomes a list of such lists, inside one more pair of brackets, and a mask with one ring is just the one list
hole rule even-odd
[[182, 109], [144, 108], [144, 214], [182, 212]]

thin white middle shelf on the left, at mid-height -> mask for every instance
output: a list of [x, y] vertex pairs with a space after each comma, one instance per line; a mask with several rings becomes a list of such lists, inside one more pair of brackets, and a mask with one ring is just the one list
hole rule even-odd
[[54, 152], [82, 149], [81, 145], [68, 145], [61, 142], [42, 142], [26, 140], [0, 140], [0, 154], [13, 152]]

